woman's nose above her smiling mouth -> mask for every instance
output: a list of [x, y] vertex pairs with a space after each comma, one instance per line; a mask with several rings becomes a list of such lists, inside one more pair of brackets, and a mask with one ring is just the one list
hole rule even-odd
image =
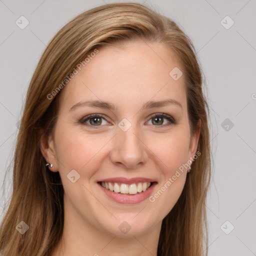
[[110, 160], [113, 164], [123, 165], [127, 169], [136, 169], [147, 160], [147, 147], [143, 137], [131, 125], [127, 131], [119, 129], [112, 141]]

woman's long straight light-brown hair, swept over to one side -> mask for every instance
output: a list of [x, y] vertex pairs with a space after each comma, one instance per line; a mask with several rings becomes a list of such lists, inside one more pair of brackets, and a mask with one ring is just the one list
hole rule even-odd
[[[174, 52], [185, 77], [191, 134], [201, 120], [201, 155], [192, 162], [178, 201], [162, 221], [157, 255], [207, 255], [205, 200], [211, 153], [201, 68], [190, 39], [173, 20], [133, 2], [105, 4], [79, 14], [56, 33], [40, 57], [15, 145], [13, 189], [0, 227], [3, 255], [51, 255], [62, 235], [63, 186], [58, 172], [45, 168], [38, 135], [40, 129], [52, 134], [61, 90], [50, 99], [47, 95], [96, 47], [134, 38], [163, 43]], [[24, 234], [15, 228], [20, 221], [29, 226]]]

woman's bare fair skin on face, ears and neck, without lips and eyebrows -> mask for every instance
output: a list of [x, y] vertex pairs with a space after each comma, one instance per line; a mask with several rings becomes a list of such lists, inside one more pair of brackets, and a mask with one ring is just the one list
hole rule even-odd
[[[196, 153], [200, 125], [191, 136], [184, 77], [174, 80], [169, 75], [175, 66], [182, 69], [179, 63], [162, 44], [148, 47], [133, 41], [124, 46], [98, 48], [62, 89], [54, 136], [41, 137], [41, 152], [53, 164], [50, 171], [59, 171], [64, 188], [63, 236], [53, 256], [156, 255], [162, 219], [180, 196], [187, 170], [153, 202], [148, 198], [133, 204], [115, 202], [97, 181], [151, 178], [157, 182], [154, 195]], [[149, 100], [165, 99], [181, 106], [142, 108]], [[70, 110], [84, 100], [107, 101], [116, 109]], [[100, 114], [100, 124], [91, 124], [95, 117], [91, 122], [83, 118], [89, 114]], [[118, 126], [123, 118], [131, 124], [126, 131]], [[67, 178], [72, 169], [80, 175], [74, 183]], [[123, 221], [130, 226], [127, 233], [118, 228]]]

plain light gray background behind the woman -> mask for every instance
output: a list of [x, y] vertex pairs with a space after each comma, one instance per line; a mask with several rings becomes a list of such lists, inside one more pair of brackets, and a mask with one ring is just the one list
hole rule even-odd
[[[109, 2], [115, 1], [0, 0], [1, 186], [13, 154], [24, 95], [43, 49], [72, 17]], [[190, 36], [206, 77], [214, 161], [206, 205], [209, 255], [256, 255], [256, 0], [144, 2], [174, 19]], [[24, 29], [15, 24], [21, 15], [29, 21]], [[227, 15], [234, 21], [228, 29], [224, 27], [231, 24], [224, 18]], [[2, 213], [11, 177], [8, 171], [6, 194], [0, 190]]]

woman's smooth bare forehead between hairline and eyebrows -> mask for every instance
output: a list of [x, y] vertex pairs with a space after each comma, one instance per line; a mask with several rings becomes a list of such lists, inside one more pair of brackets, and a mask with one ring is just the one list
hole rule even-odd
[[61, 108], [86, 99], [110, 101], [125, 108], [166, 98], [186, 107], [184, 77], [175, 80], [171, 76], [171, 70], [182, 68], [165, 45], [132, 41], [97, 50], [64, 87]]

